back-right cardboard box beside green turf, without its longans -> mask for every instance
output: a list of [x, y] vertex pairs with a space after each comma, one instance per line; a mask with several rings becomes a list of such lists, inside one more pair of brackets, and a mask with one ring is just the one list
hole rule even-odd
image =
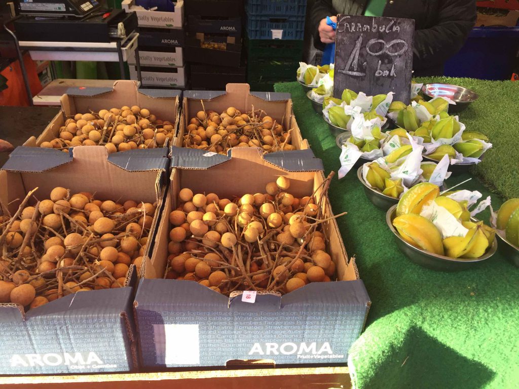
[[179, 132], [173, 144], [183, 147], [189, 120], [196, 118], [199, 111], [214, 110], [221, 114], [229, 107], [234, 107], [242, 113], [251, 112], [253, 107], [254, 110], [263, 110], [262, 116], [268, 115], [276, 123], [281, 123], [285, 131], [292, 130], [293, 149], [310, 148], [297, 126], [290, 93], [251, 92], [249, 84], [227, 84], [226, 91], [184, 91]]

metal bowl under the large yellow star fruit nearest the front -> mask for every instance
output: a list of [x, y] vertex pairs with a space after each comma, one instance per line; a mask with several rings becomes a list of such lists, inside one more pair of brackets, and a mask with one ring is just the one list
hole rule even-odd
[[[485, 259], [493, 256], [497, 251], [497, 239], [494, 239], [492, 246], [488, 249], [485, 255], [474, 258], [474, 259], [463, 259], [463, 258], [450, 258], [443, 255], [432, 254], [427, 251], [421, 250], [400, 237], [398, 231], [393, 227], [393, 219], [396, 217], [397, 205], [393, 205], [386, 213], [386, 223], [389, 229], [395, 235], [397, 246], [407, 258], [417, 265], [423, 266], [431, 270], [440, 271], [460, 271], [467, 270], [476, 265], [477, 263], [483, 262]], [[474, 219], [472, 219], [474, 220]]]

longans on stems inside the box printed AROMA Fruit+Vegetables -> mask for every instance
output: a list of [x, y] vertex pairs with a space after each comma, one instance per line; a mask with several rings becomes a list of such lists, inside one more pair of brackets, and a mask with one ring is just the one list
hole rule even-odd
[[179, 207], [169, 215], [165, 278], [197, 281], [225, 295], [234, 290], [289, 293], [310, 282], [332, 281], [335, 262], [322, 230], [329, 220], [322, 210], [332, 174], [321, 185], [317, 203], [317, 190], [296, 198], [283, 176], [268, 183], [266, 193], [233, 201], [180, 190]]

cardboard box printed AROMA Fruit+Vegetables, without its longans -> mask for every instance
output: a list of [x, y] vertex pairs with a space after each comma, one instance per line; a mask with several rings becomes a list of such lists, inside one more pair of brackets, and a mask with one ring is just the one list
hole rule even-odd
[[[174, 150], [172, 167], [164, 215], [176, 209], [181, 188], [233, 199], [263, 193], [267, 183], [284, 176], [290, 178], [288, 192], [304, 197], [324, 178], [322, 162], [311, 150], [280, 156], [233, 148], [230, 156], [203, 157], [200, 150], [183, 148]], [[327, 198], [324, 207], [323, 217], [332, 216]], [[258, 292], [254, 303], [244, 294], [229, 298], [196, 281], [164, 279], [170, 230], [164, 217], [134, 302], [144, 367], [225, 367], [231, 360], [258, 359], [275, 365], [347, 362], [371, 301], [335, 219], [325, 221], [323, 230], [337, 281], [309, 283], [283, 296]]]

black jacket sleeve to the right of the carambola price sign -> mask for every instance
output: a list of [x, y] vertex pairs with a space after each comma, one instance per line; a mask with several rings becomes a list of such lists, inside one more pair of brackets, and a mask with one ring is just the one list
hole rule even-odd
[[438, 23], [422, 30], [416, 26], [413, 68], [443, 65], [461, 49], [475, 21], [474, 0], [441, 0]]

